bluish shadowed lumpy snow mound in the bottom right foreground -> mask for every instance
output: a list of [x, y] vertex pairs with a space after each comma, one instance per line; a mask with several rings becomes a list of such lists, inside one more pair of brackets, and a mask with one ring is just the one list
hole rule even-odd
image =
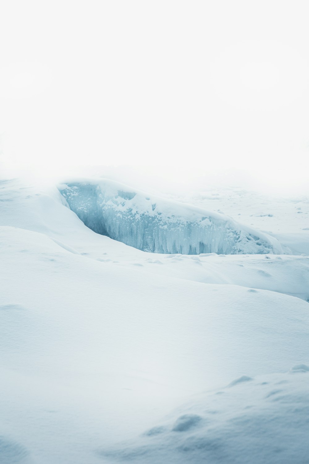
[[137, 440], [99, 454], [134, 464], [306, 464], [309, 374], [291, 372], [195, 396]]

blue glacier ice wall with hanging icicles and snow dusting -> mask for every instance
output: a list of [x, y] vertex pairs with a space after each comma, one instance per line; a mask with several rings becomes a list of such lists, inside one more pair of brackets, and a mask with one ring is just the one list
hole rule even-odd
[[156, 253], [282, 253], [276, 238], [221, 213], [166, 200], [111, 180], [75, 180], [59, 187], [93, 231]]

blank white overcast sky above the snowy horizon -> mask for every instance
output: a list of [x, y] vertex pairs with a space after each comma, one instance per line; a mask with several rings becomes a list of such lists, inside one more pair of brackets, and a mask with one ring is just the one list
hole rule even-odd
[[295, 0], [2, 0], [2, 167], [306, 180], [308, 17]]

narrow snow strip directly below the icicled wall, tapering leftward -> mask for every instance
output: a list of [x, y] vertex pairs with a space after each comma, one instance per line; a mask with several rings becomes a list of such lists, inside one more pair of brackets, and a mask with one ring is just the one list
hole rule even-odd
[[[108, 254], [105, 260], [108, 260]], [[104, 258], [98, 258], [104, 261]], [[290, 255], [151, 255], [119, 262], [205, 284], [236, 284], [297, 296], [309, 302], [309, 258]]]

